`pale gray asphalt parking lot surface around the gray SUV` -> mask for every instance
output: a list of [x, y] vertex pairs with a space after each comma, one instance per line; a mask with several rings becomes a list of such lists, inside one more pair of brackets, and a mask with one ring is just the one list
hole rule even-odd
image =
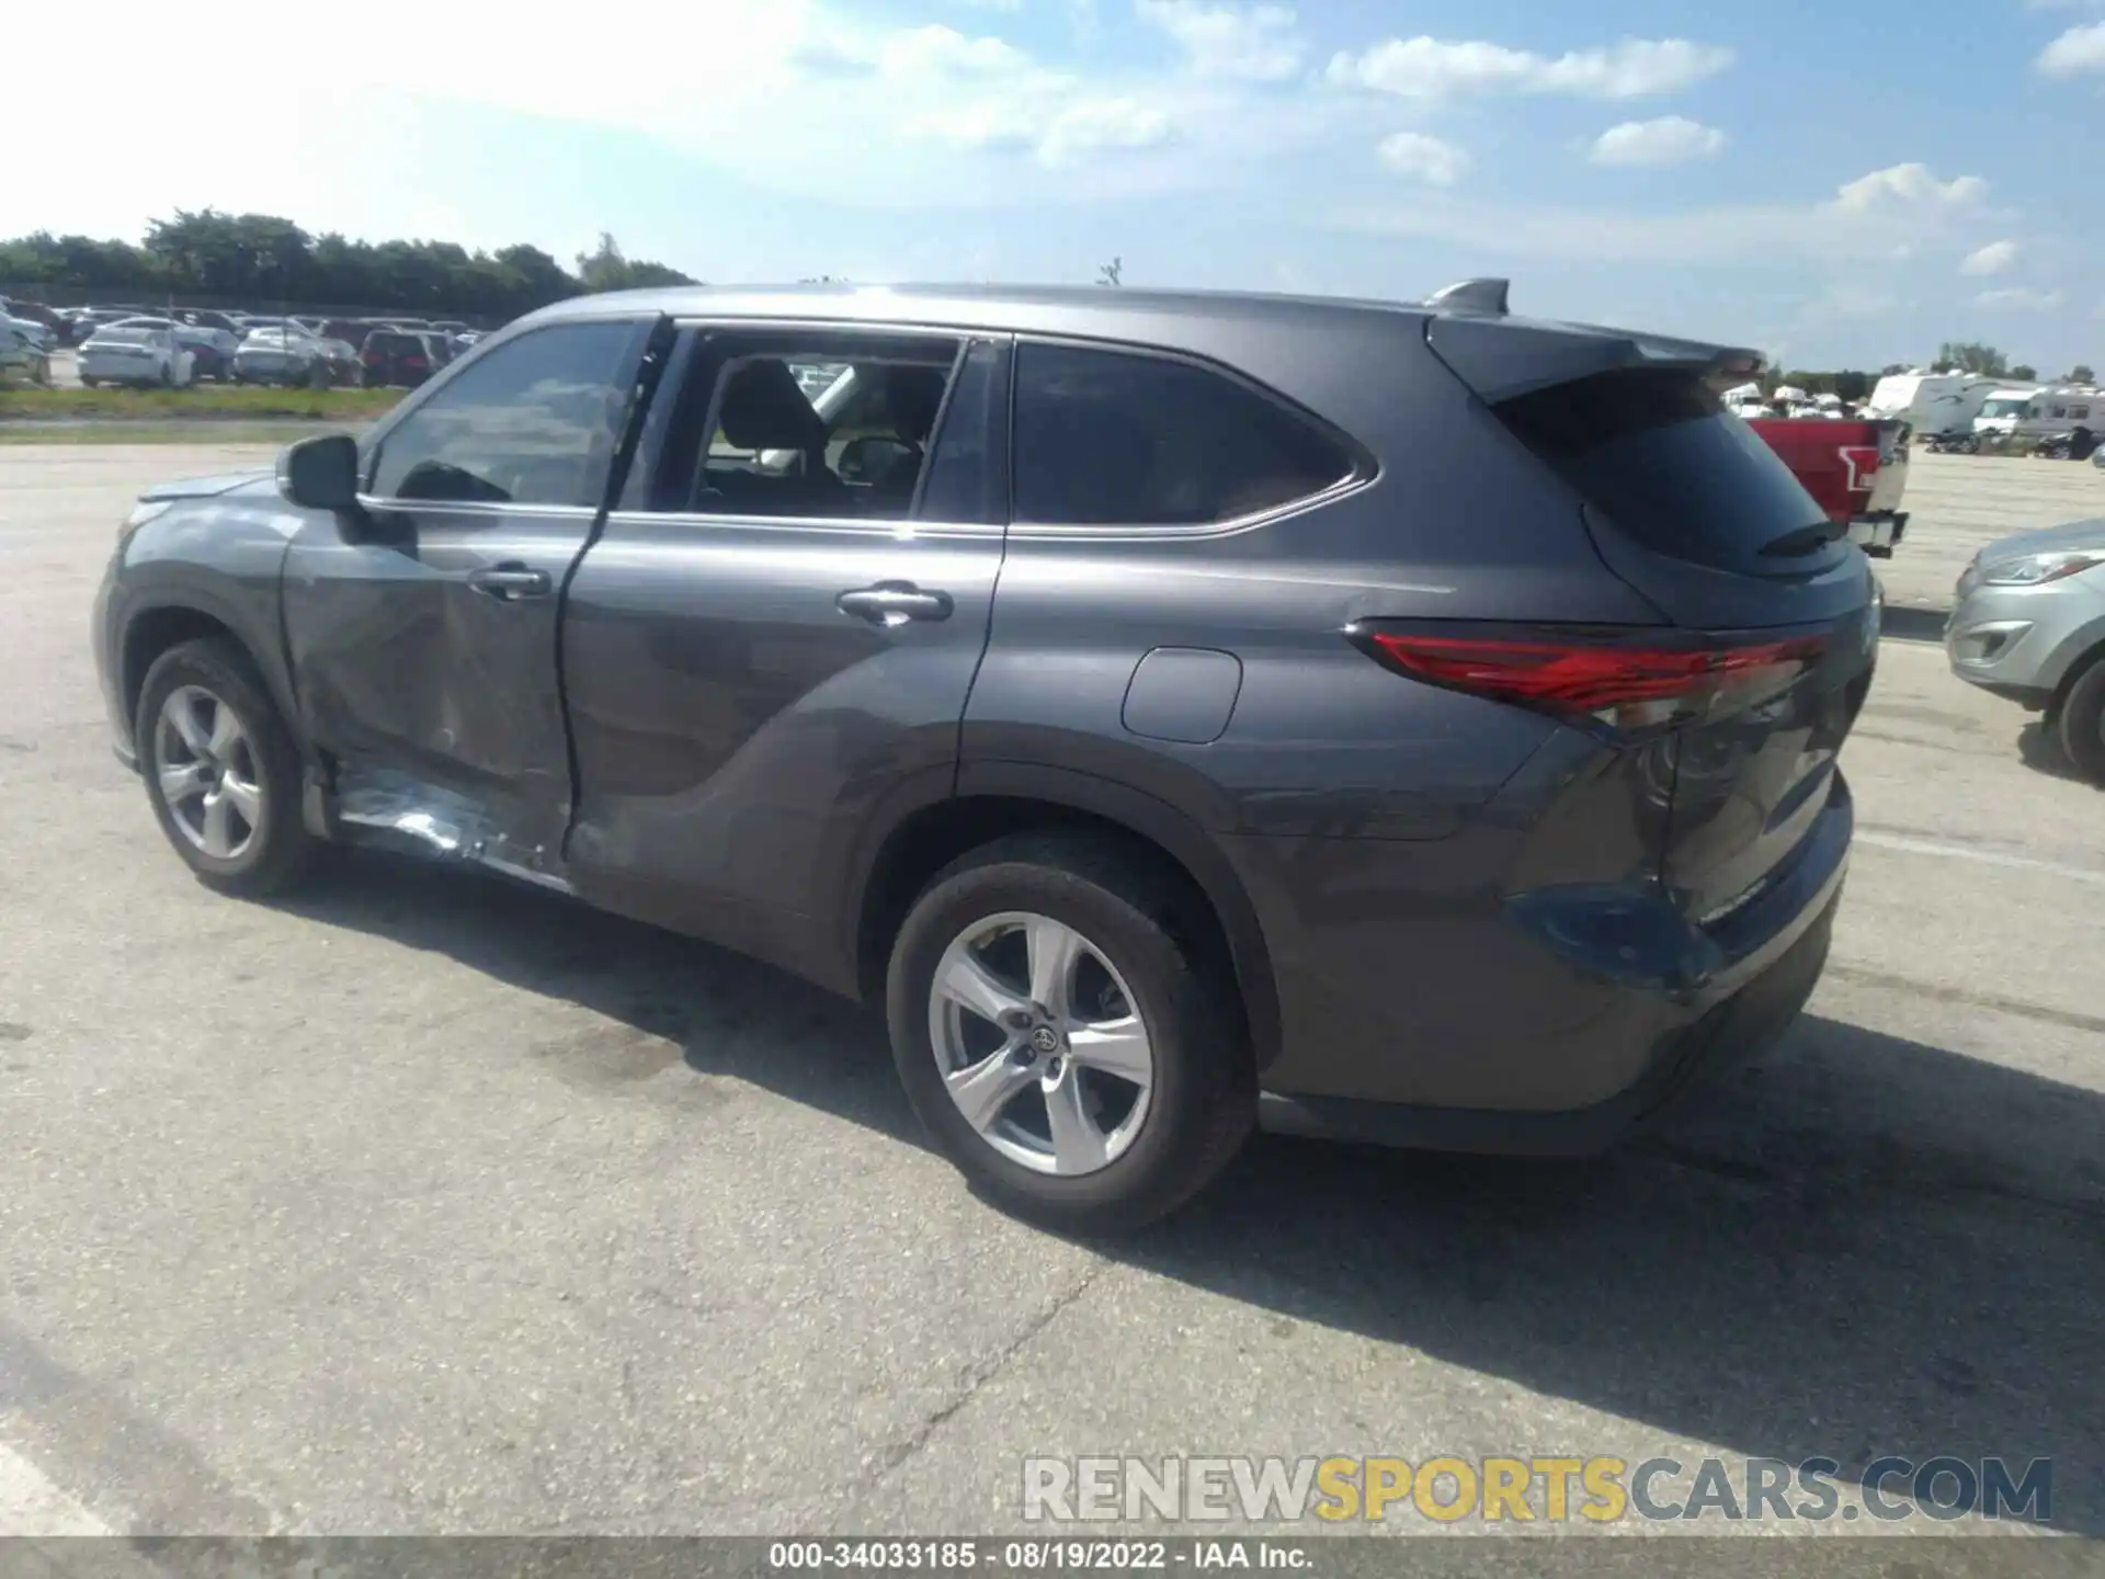
[[[2052, 1457], [2105, 1533], [2105, 794], [1934, 642], [1844, 754], [1810, 1011], [1669, 1137], [1263, 1139], [1084, 1246], [789, 979], [381, 859], [194, 884], [88, 602], [137, 486], [265, 457], [0, 448], [0, 1533], [1010, 1531], [1023, 1455], [1189, 1451]], [[1918, 455], [1907, 503], [1920, 634], [2105, 472]]]

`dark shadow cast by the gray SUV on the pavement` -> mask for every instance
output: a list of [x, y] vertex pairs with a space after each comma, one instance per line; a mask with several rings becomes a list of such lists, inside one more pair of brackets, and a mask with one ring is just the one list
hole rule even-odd
[[[444, 952], [671, 1038], [688, 1070], [924, 1143], [878, 1019], [737, 956], [364, 857], [286, 910]], [[671, 1059], [657, 1078], [680, 1074]], [[1259, 1137], [1183, 1215], [1092, 1248], [1671, 1438], [1831, 1457], [1844, 1478], [1882, 1455], [2004, 1457], [2019, 1476], [2048, 1457], [2052, 1524], [2097, 1535], [2099, 1137], [2092, 1091], [1812, 1013], [1667, 1133], [1606, 1158]]]

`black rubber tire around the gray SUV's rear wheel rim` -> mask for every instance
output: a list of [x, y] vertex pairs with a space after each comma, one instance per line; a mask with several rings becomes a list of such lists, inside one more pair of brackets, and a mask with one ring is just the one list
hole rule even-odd
[[[998, 1206], [1063, 1234], [1118, 1234], [1177, 1211], [1234, 1160], [1257, 1120], [1257, 1070], [1234, 971], [1210, 960], [1187, 899], [1141, 851], [1090, 834], [1019, 834], [973, 851], [914, 901], [886, 979], [893, 1061], [914, 1112]], [[951, 1101], [928, 1030], [943, 952], [983, 916], [1036, 912], [1101, 947], [1141, 1000], [1154, 1051], [1132, 1145], [1080, 1177], [1034, 1173], [987, 1145]]]

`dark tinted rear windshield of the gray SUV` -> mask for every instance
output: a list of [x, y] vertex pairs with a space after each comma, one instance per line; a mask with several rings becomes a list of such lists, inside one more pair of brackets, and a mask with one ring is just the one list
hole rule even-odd
[[1587, 505], [1655, 554], [1789, 575], [1836, 535], [1791, 469], [1699, 373], [1596, 373], [1497, 413]]

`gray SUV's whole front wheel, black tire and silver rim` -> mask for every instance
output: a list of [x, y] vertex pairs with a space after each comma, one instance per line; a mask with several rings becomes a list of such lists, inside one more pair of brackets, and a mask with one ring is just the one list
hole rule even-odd
[[299, 752], [238, 646], [162, 653], [137, 743], [162, 834], [206, 884], [265, 895], [305, 867], [316, 840], [299, 819]]

